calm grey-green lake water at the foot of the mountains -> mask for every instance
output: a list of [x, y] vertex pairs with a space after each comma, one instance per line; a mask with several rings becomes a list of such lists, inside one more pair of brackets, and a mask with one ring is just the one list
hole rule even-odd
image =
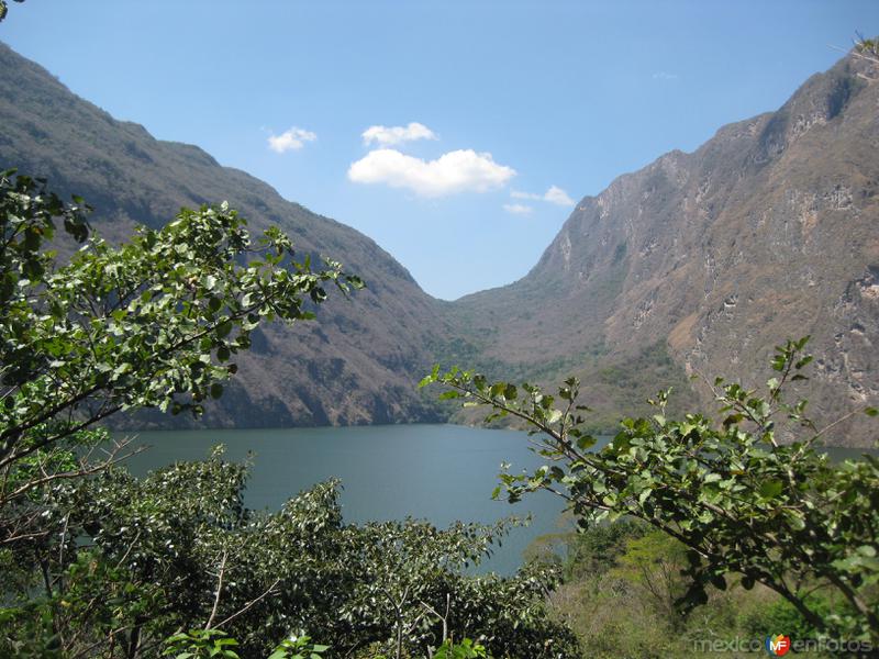
[[510, 505], [492, 501], [502, 461], [513, 471], [539, 466], [525, 433], [455, 425], [391, 425], [346, 428], [245, 431], [166, 431], [136, 434], [135, 445], [149, 449], [131, 459], [143, 474], [177, 460], [204, 458], [216, 444], [226, 458], [254, 454], [245, 503], [277, 510], [300, 490], [330, 478], [343, 484], [346, 522], [425, 518], [443, 527], [464, 522], [492, 523], [515, 514], [534, 517], [527, 528], [514, 528], [496, 547], [483, 568], [511, 573], [522, 551], [536, 536], [559, 529], [560, 499], [535, 492]]

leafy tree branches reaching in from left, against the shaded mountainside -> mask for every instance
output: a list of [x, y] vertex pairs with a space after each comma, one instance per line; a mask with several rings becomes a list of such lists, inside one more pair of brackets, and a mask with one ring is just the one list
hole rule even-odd
[[[140, 228], [111, 247], [89, 238], [81, 199], [64, 204], [45, 182], [13, 174], [0, 175], [3, 511], [47, 478], [94, 471], [93, 463], [45, 471], [60, 463], [53, 449], [68, 449], [63, 442], [122, 410], [200, 414], [205, 400], [222, 395], [237, 370], [233, 356], [262, 322], [314, 317], [326, 282], [343, 292], [363, 286], [335, 261], [319, 271], [308, 256], [297, 263], [275, 227], [252, 241], [226, 204], [182, 210], [162, 230]], [[64, 266], [45, 249], [58, 242], [57, 220], [84, 244]], [[36, 533], [27, 518], [0, 520], [0, 546]]]

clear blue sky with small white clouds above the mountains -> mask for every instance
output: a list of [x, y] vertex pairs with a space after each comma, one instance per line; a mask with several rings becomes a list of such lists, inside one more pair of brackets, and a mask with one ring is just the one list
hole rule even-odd
[[523, 277], [570, 200], [778, 108], [856, 32], [879, 2], [27, 0], [0, 24], [79, 96], [363, 231], [444, 299]]

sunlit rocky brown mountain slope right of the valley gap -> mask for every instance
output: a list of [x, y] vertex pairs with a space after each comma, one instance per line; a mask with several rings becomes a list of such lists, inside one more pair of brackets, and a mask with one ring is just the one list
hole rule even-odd
[[[694, 371], [760, 384], [772, 347], [811, 334], [812, 412], [876, 404], [879, 83], [860, 66], [846, 58], [777, 112], [583, 199], [524, 279], [455, 305], [469, 350], [497, 371], [580, 372], [601, 409], [633, 379], [639, 392]], [[836, 431], [879, 436], [861, 417]]]

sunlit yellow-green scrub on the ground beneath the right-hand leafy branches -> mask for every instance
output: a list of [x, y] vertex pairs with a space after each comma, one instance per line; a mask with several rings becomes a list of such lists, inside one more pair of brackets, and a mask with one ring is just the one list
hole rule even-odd
[[[543, 538], [537, 546], [549, 544], [560, 551], [535, 551], [538, 560], [565, 574], [549, 599], [550, 615], [574, 630], [590, 658], [694, 659], [711, 648], [738, 656], [763, 652], [770, 635], [801, 643], [821, 637], [780, 595], [760, 584], [745, 590], [741, 579], [725, 590], [709, 587], [705, 603], [682, 615], [675, 602], [688, 585], [681, 574], [686, 547], [647, 524], [620, 520]], [[809, 605], [827, 614], [846, 607], [821, 592], [809, 596]], [[841, 655], [825, 647], [810, 656]]]

